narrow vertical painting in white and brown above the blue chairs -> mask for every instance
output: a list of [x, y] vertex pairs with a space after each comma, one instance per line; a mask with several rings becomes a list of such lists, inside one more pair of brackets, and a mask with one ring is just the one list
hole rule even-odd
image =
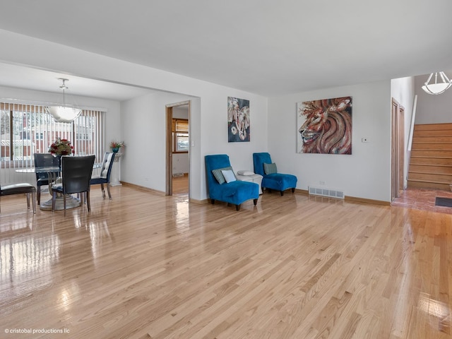
[[250, 141], [249, 100], [227, 97], [227, 141]]

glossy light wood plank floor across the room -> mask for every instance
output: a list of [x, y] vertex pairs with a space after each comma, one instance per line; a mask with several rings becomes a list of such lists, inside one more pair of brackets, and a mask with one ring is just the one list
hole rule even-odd
[[1, 198], [0, 338], [452, 338], [450, 214], [112, 196], [66, 218]]

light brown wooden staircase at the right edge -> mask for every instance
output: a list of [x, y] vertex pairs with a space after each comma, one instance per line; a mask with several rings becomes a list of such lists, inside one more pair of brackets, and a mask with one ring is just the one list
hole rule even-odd
[[451, 190], [452, 124], [415, 125], [408, 187]]

